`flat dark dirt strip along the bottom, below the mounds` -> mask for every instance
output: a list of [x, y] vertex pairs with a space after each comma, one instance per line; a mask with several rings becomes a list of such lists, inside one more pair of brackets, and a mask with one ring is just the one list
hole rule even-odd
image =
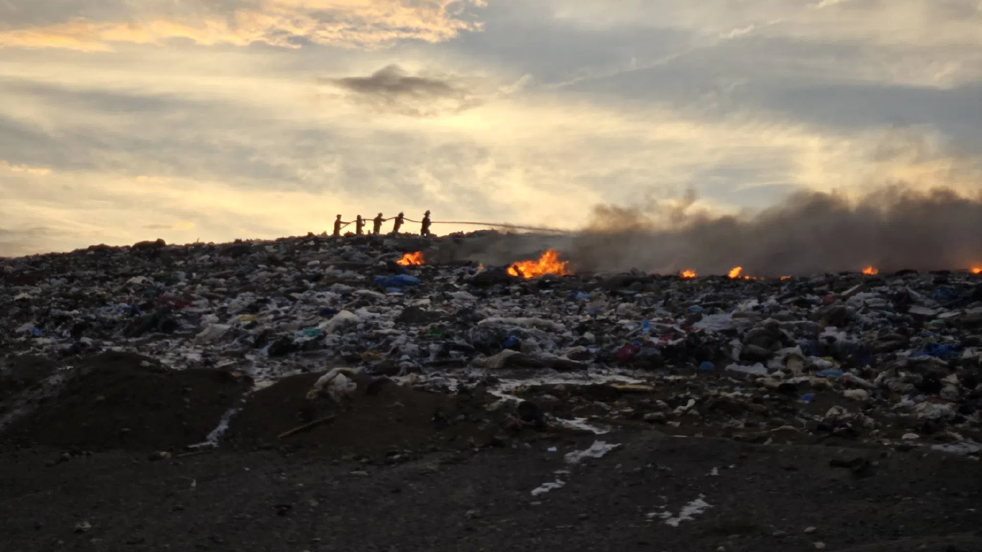
[[[274, 451], [104, 452], [46, 466], [60, 451], [32, 448], [0, 456], [0, 548], [982, 550], [982, 465], [970, 459], [601, 438], [621, 447], [576, 465], [565, 455], [596, 438], [387, 466]], [[566, 485], [533, 496], [557, 478]]]

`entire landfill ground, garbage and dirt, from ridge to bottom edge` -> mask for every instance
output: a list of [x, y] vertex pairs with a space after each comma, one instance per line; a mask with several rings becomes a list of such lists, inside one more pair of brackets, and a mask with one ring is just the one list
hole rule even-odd
[[982, 550], [979, 275], [488, 239], [0, 259], [4, 549]]

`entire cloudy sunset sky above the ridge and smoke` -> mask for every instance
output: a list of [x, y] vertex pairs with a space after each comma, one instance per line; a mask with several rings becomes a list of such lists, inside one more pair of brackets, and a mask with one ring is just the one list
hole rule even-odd
[[0, 255], [977, 192], [980, 150], [980, 0], [0, 0]]

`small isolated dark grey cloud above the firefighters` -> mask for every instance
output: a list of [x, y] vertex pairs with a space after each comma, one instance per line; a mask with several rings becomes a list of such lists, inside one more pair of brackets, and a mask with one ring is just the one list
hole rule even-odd
[[378, 112], [412, 117], [461, 113], [484, 103], [493, 91], [484, 80], [456, 75], [410, 75], [398, 65], [384, 67], [369, 77], [322, 79], [355, 103]]

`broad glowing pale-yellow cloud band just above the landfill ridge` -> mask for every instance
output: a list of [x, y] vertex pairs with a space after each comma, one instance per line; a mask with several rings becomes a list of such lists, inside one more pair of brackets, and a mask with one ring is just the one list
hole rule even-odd
[[[355, 81], [357, 91], [347, 93], [428, 101], [458, 83], [407, 72], [389, 85], [378, 83], [372, 72], [363, 74], [368, 77]], [[171, 76], [175, 83], [157, 82], [165, 91], [149, 84], [126, 93], [77, 89], [93, 79], [111, 81], [109, 75], [73, 77], [59, 71], [66, 81], [9, 86], [17, 95], [6, 103], [0, 100], [0, 117], [17, 117], [20, 123], [0, 125], [0, 145], [10, 162], [51, 167], [60, 174], [49, 186], [25, 182], [2, 192], [20, 198], [24, 212], [44, 213], [25, 222], [85, 212], [86, 218], [75, 220], [102, 221], [105, 233], [130, 243], [141, 238], [135, 235], [140, 231], [126, 228], [132, 215], [122, 213], [153, 213], [160, 220], [146, 224], [196, 222], [190, 241], [231, 239], [243, 237], [235, 230], [238, 218], [216, 218], [214, 225], [206, 225], [206, 213], [235, 201], [247, 208], [246, 219], [254, 219], [253, 209], [270, 203], [309, 201], [319, 205], [321, 215], [430, 208], [436, 220], [571, 228], [585, 222], [590, 205], [602, 198], [627, 205], [649, 193], [695, 187], [700, 205], [762, 207], [796, 189], [862, 186], [873, 170], [870, 151], [882, 141], [879, 132], [814, 129], [759, 110], [705, 117], [658, 104], [605, 105], [601, 99], [528, 90], [453, 117], [365, 118], [362, 110], [312, 111], [298, 100], [309, 81], [263, 87], [247, 73], [227, 75], [221, 95], [210, 100], [179, 95], [179, 84], [193, 81], [180, 74]], [[403, 77], [409, 83], [418, 83], [413, 80], [418, 77], [425, 85], [413, 87]], [[410, 106], [432, 109], [426, 101]], [[25, 139], [19, 128], [32, 129], [27, 136], [34, 139]], [[892, 170], [905, 167], [903, 178], [908, 179], [922, 175], [923, 186], [929, 185], [928, 176], [945, 172], [934, 161], [905, 159], [893, 163]], [[100, 178], [120, 184], [107, 189], [96, 184]], [[195, 182], [201, 190], [220, 182], [227, 193], [188, 202], [185, 195], [203, 194], [194, 191]], [[160, 212], [176, 200], [169, 193], [177, 193], [187, 206]], [[125, 221], [112, 231], [115, 223], [107, 222], [106, 212], [88, 210], [110, 205]], [[312, 225], [316, 218], [284, 214], [262, 220], [263, 229], [271, 229], [264, 235], [276, 235], [300, 231], [300, 220]], [[223, 230], [218, 221], [229, 226]], [[96, 235], [94, 228], [70, 230], [76, 236]]]

